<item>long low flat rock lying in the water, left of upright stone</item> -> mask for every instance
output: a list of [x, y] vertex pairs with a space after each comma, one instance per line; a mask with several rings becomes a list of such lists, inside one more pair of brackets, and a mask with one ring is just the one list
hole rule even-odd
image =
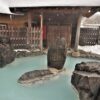
[[49, 70], [49, 69], [42, 69], [42, 70], [33, 70], [30, 72], [24, 73], [19, 79], [18, 83], [24, 84], [24, 85], [30, 85], [35, 84], [40, 81], [50, 80], [54, 76], [57, 76], [61, 71], [55, 71], [55, 70]]

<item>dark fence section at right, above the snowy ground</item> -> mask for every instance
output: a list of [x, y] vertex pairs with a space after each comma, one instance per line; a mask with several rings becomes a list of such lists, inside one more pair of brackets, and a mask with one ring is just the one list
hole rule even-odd
[[95, 45], [99, 44], [99, 27], [81, 28], [79, 45]]

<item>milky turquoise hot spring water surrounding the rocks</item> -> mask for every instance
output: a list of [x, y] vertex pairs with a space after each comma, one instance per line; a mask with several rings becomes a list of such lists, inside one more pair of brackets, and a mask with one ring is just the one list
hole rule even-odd
[[0, 69], [0, 100], [78, 100], [70, 79], [75, 64], [81, 61], [89, 60], [67, 57], [64, 65], [68, 71], [66, 75], [42, 84], [23, 86], [17, 83], [18, 78], [27, 71], [47, 68], [47, 57], [17, 58]]

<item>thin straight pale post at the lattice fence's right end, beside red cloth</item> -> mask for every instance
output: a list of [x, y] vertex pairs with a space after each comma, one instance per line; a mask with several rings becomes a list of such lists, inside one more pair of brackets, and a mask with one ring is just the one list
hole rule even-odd
[[43, 14], [40, 15], [40, 49], [43, 51]]

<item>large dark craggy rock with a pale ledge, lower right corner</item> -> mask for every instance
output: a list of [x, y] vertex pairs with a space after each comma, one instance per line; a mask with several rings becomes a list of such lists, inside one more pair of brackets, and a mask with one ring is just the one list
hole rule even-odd
[[80, 100], [100, 100], [100, 63], [76, 64], [71, 83], [78, 91]]

